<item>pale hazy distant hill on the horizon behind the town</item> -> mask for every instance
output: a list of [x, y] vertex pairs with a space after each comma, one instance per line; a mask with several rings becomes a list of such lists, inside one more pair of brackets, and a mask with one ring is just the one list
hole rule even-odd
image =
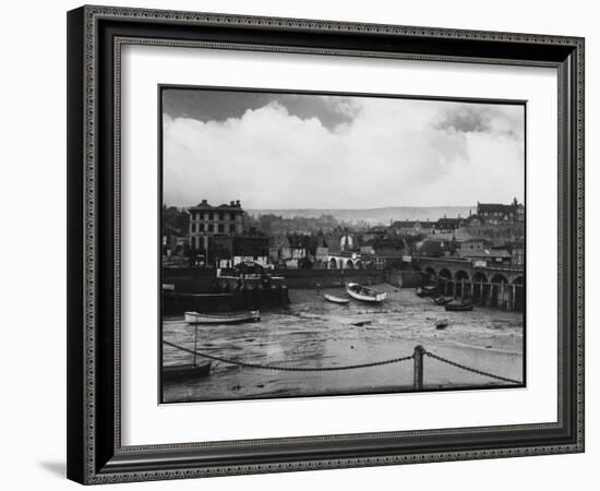
[[247, 213], [255, 217], [272, 214], [284, 218], [293, 218], [295, 216], [319, 218], [321, 215], [332, 215], [344, 221], [364, 220], [373, 225], [389, 225], [391, 220], [436, 220], [443, 218], [444, 215], [447, 218], [467, 217], [469, 212], [476, 213], [476, 211], [475, 206], [388, 206], [369, 209], [247, 209]]

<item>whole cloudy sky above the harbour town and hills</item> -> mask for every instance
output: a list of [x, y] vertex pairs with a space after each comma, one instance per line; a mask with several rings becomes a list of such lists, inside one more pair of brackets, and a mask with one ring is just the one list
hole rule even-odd
[[163, 137], [169, 206], [524, 201], [524, 105], [165, 88]]

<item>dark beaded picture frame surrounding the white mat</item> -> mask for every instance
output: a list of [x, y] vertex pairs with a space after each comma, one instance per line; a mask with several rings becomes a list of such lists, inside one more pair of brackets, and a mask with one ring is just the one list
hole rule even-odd
[[[120, 49], [124, 44], [552, 67], [559, 73], [555, 422], [123, 446]], [[584, 39], [83, 7], [68, 14], [68, 477], [175, 479], [584, 451]], [[535, 321], [533, 321], [535, 322]]]

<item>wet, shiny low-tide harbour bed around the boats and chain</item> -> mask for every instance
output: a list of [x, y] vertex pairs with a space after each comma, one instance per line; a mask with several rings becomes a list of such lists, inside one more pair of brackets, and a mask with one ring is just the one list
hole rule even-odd
[[[285, 367], [339, 367], [411, 355], [417, 345], [455, 362], [523, 380], [523, 314], [477, 308], [445, 312], [412, 289], [380, 285], [381, 306], [351, 300], [326, 302], [341, 289], [290, 290], [289, 307], [262, 312], [261, 322], [197, 327], [197, 350], [217, 357]], [[447, 319], [445, 330], [434, 322]], [[362, 325], [356, 325], [362, 323]], [[164, 339], [194, 348], [194, 327], [182, 318], [164, 321]], [[193, 361], [193, 355], [164, 345], [164, 364]], [[199, 358], [200, 361], [200, 358]], [[211, 375], [164, 386], [164, 402], [195, 402], [412, 390], [413, 361], [333, 372], [251, 369], [213, 361]], [[427, 388], [505, 386], [506, 383], [424, 358]]]

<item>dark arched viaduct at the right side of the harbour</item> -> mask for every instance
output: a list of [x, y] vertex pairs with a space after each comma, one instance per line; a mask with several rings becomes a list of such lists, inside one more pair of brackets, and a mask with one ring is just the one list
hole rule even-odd
[[525, 270], [520, 265], [455, 258], [406, 258], [405, 263], [444, 295], [505, 310], [525, 308]]

